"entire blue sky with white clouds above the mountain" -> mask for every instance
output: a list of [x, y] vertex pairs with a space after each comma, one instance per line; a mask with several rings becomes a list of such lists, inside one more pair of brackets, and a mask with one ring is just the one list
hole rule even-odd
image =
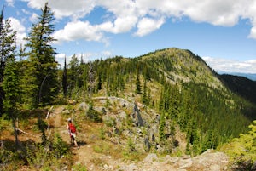
[[[17, 42], [37, 23], [44, 0], [0, 0]], [[49, 0], [56, 60], [137, 57], [184, 48], [215, 71], [256, 73], [255, 0]]]

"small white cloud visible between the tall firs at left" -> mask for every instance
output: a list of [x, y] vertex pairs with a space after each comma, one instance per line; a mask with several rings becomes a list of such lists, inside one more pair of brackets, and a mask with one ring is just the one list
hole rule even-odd
[[20, 23], [20, 20], [17, 20], [15, 18], [10, 17], [10, 25], [12, 26], [12, 28], [14, 29], [14, 31], [17, 31], [16, 34], [16, 43], [18, 46], [20, 46], [20, 44], [25, 44], [26, 41], [24, 40], [24, 37], [26, 37], [26, 28], [25, 26], [23, 26]]

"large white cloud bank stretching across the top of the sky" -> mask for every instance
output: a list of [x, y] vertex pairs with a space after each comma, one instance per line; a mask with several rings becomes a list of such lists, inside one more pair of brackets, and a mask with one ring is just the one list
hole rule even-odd
[[[28, 6], [34, 9], [42, 8], [46, 2], [23, 1], [28, 2]], [[98, 36], [93, 34], [96, 41], [98, 37], [104, 36], [104, 31], [117, 34], [133, 31], [134, 28], [137, 30], [134, 35], [142, 37], [159, 29], [169, 18], [180, 20], [183, 17], [215, 26], [235, 26], [239, 20], [248, 19], [252, 25], [248, 37], [256, 39], [255, 0], [49, 0], [49, 7], [55, 12], [57, 19], [70, 17], [72, 22], [82, 20], [96, 7], [106, 9], [106, 14], [112, 14], [113, 17], [97, 26], [91, 26], [97, 28], [95, 33]], [[67, 23], [68, 25], [70, 23]]]

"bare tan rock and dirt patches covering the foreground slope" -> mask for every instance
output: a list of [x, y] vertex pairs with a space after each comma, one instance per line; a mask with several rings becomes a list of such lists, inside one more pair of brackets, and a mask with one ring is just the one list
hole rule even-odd
[[[130, 103], [129, 101], [126, 101], [121, 98], [116, 97], [98, 97], [95, 98], [95, 109], [97, 111], [102, 111], [103, 105], [105, 104], [106, 100], [109, 100], [108, 102], [110, 104], [116, 104], [115, 111], [113, 112], [113, 109], [110, 109], [109, 107], [103, 107], [105, 109], [105, 115], [103, 116], [103, 122], [109, 122], [109, 121], [115, 121], [117, 122], [116, 126], [112, 129], [112, 132], [106, 131], [106, 139], [105, 142], [102, 142], [102, 140], [99, 137], [99, 134], [96, 133], [96, 129], [98, 127], [103, 127], [102, 124], [99, 123], [99, 125], [94, 125], [95, 128], [90, 128], [90, 123], [84, 123], [87, 124], [84, 126], [84, 129], [80, 129], [79, 131], [79, 143], [80, 143], [80, 149], [79, 150], [73, 150], [74, 159], [75, 159], [75, 165], [82, 165], [86, 166], [87, 170], [124, 170], [124, 171], [186, 171], [186, 170], [212, 170], [212, 171], [220, 171], [220, 170], [228, 170], [228, 163], [229, 159], [228, 157], [222, 153], [222, 152], [214, 152], [212, 150], [208, 150], [197, 157], [191, 157], [191, 156], [181, 156], [181, 157], [171, 157], [169, 155], [161, 155], [158, 156], [156, 153], [152, 152], [145, 152], [144, 146], [144, 139], [143, 139], [143, 133], [142, 133], [142, 126], [139, 127], [139, 121], [137, 118], [134, 118], [134, 126], [133, 128], [130, 128], [130, 130], [125, 130], [125, 128], [122, 127], [122, 119], [125, 119], [126, 117], [129, 117], [125, 114], [125, 110], [131, 110], [135, 107], [134, 104]], [[139, 105], [139, 104], [138, 104]], [[67, 130], [66, 130], [66, 117], [72, 116], [73, 119], [79, 119], [81, 115], [84, 113], [83, 111], [86, 111], [89, 107], [86, 103], [80, 103], [79, 105], [75, 105], [76, 108], [74, 108], [74, 111], [70, 111], [67, 109], [66, 106], [57, 107], [54, 112], [51, 114], [50, 119], [52, 119], [54, 122], [52, 123], [55, 129], [61, 133], [61, 137], [63, 140], [69, 142], [68, 136], [67, 136]], [[140, 106], [140, 105], [139, 105]], [[143, 108], [143, 106], [140, 106]], [[141, 110], [142, 115], [141, 118], [143, 119], [143, 124], [146, 126], [148, 122], [150, 122], [150, 119], [154, 120], [154, 122], [157, 121], [155, 118], [152, 117], [146, 117], [146, 112], [144, 110]], [[152, 114], [154, 111], [150, 111]], [[148, 113], [149, 113], [148, 112]], [[157, 116], [156, 113], [154, 113], [155, 116]], [[64, 117], [63, 117], [64, 116]], [[132, 116], [131, 116], [132, 117]], [[112, 118], [112, 119], [111, 119]], [[81, 124], [81, 123], [79, 123]], [[80, 126], [83, 127], [83, 126]], [[152, 126], [154, 128], [154, 126]], [[90, 129], [94, 129], [95, 132], [90, 132]], [[119, 132], [121, 131], [121, 132]], [[154, 132], [154, 129], [151, 129], [152, 132]], [[113, 135], [115, 134], [115, 135]], [[124, 137], [125, 135], [125, 137]], [[144, 157], [141, 160], [137, 161], [131, 161], [127, 160], [125, 158], [118, 158], [116, 155], [113, 155], [112, 151], [108, 152], [100, 152], [96, 151], [96, 146], [99, 146], [101, 143], [106, 143], [108, 140], [111, 140], [110, 144], [108, 145], [116, 145], [119, 146], [120, 149], [124, 149], [127, 144], [127, 136], [130, 136], [132, 140], [134, 140], [137, 143], [137, 146], [135, 147], [137, 151], [144, 151]], [[184, 135], [182, 133], [177, 134], [175, 137], [177, 140], [180, 141], [180, 144], [183, 144], [183, 137]], [[150, 140], [151, 141], [151, 140]], [[109, 142], [109, 141], [108, 141]], [[142, 148], [139, 150], [139, 148]], [[159, 149], [156, 149], [160, 151]], [[182, 148], [182, 147], [180, 147]], [[125, 151], [125, 149], [124, 149]], [[119, 151], [122, 152], [122, 151]]]

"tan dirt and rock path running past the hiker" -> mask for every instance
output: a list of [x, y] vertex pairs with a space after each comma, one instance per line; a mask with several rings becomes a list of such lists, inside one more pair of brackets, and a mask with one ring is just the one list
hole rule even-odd
[[[55, 131], [61, 134], [62, 140], [69, 143], [67, 134], [67, 122], [61, 117], [62, 107], [58, 107], [51, 114]], [[113, 159], [110, 155], [96, 153], [95, 143], [89, 140], [87, 134], [79, 133], [80, 149], [73, 149], [75, 164], [86, 166], [87, 170], [119, 170], [119, 171], [222, 171], [228, 170], [228, 157], [221, 152], [206, 151], [198, 157], [158, 157], [156, 154], [148, 154], [140, 162], [124, 162], [121, 159]], [[87, 140], [87, 141], [86, 141]]]

